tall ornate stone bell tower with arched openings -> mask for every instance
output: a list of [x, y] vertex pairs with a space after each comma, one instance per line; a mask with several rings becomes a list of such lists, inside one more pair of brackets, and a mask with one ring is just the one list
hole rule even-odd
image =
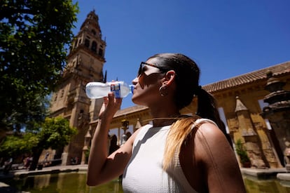
[[57, 149], [55, 158], [61, 156], [62, 165], [71, 164], [71, 159], [74, 164], [80, 164], [89, 122], [96, 119], [102, 105], [102, 99], [90, 100], [85, 95], [85, 85], [90, 81], [106, 81], [103, 75], [105, 49], [99, 18], [91, 11], [72, 41], [62, 81], [51, 100], [51, 116], [69, 119], [70, 126], [78, 128], [78, 134], [69, 145]]

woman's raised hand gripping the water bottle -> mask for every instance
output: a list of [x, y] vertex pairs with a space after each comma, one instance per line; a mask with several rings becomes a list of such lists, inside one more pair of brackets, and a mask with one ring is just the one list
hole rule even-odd
[[102, 108], [99, 110], [99, 119], [113, 119], [113, 115], [120, 109], [122, 98], [115, 98], [113, 92], [104, 97]]

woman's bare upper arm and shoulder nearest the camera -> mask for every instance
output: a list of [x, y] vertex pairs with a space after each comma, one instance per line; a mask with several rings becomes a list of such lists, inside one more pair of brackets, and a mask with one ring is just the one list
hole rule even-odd
[[205, 166], [209, 192], [246, 192], [235, 153], [219, 128], [202, 124], [196, 139], [196, 156]]

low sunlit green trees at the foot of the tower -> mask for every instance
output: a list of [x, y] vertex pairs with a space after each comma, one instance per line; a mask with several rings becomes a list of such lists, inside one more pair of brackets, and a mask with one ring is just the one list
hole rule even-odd
[[[36, 131], [36, 129], [34, 129]], [[69, 143], [72, 135], [76, 134], [76, 128], [69, 126], [69, 121], [62, 117], [46, 118], [39, 132], [22, 133], [22, 135], [7, 136], [0, 145], [0, 154], [14, 157], [24, 153], [40, 152], [49, 147], [57, 149]]]

